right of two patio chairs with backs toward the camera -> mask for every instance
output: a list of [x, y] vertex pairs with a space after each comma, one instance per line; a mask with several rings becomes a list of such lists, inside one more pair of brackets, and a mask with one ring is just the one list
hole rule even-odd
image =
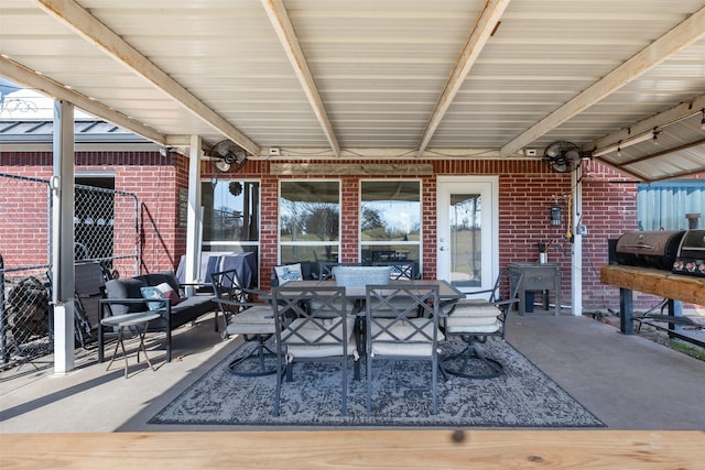
[[438, 317], [437, 285], [366, 287], [368, 413], [372, 411], [372, 363], [377, 360], [431, 362], [433, 414], [438, 413]]

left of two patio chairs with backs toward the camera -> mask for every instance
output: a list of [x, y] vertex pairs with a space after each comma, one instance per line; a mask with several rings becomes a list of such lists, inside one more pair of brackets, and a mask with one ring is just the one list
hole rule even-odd
[[[311, 308], [312, 304], [317, 308]], [[293, 380], [294, 363], [322, 361], [340, 364], [340, 414], [346, 415], [348, 361], [354, 361], [356, 380], [360, 369], [355, 316], [348, 315], [345, 305], [345, 287], [283, 285], [272, 289], [278, 363], [274, 416], [279, 416], [284, 375], [288, 382]]]

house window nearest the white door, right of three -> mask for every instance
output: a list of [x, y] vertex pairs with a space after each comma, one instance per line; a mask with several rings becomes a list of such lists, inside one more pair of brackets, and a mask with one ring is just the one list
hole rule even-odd
[[421, 259], [421, 183], [360, 182], [362, 264]]

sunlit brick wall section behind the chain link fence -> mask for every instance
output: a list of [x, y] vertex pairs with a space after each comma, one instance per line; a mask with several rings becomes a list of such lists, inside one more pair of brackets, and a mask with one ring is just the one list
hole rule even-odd
[[[76, 152], [76, 173], [82, 171], [112, 172], [115, 189], [134, 193], [139, 201], [138, 236], [134, 239], [134, 201], [116, 199], [115, 242], [116, 253], [131, 253], [139, 247], [142, 272], [175, 270], [185, 252], [186, 229], [177, 227], [178, 187], [187, 186], [187, 159], [159, 152]], [[52, 175], [51, 152], [0, 153], [0, 173], [48, 179]], [[3, 182], [7, 184], [7, 182]], [[2, 204], [14, 204], [12, 193], [1, 190]], [[45, 207], [44, 189], [21, 195], [24, 207]], [[44, 264], [46, 262], [46, 211], [40, 219], [28, 218], [22, 211], [22, 222], [0, 225], [0, 253], [6, 266]], [[26, 237], [43, 238], [39, 248], [29, 248]], [[11, 264], [12, 263], [12, 264]], [[118, 260], [115, 264], [121, 275], [134, 275], [133, 260]]]

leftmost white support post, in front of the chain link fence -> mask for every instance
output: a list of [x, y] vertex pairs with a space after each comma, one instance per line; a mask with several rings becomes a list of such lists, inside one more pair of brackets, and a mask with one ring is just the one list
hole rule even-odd
[[52, 303], [54, 373], [74, 369], [74, 106], [54, 102]]

